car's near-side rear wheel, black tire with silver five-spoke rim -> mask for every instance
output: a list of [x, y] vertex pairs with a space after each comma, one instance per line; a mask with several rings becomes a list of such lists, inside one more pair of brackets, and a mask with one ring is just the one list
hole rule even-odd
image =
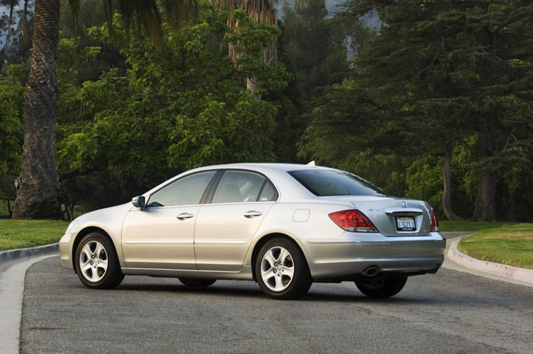
[[[283, 259], [282, 249], [288, 252]], [[267, 256], [267, 259], [264, 259], [267, 252], [272, 257]], [[275, 264], [271, 264], [269, 259], [275, 261]], [[287, 275], [291, 272], [292, 276]], [[265, 280], [263, 274], [269, 278]], [[272, 299], [283, 300], [301, 297], [309, 290], [312, 283], [304, 254], [287, 238], [273, 238], [261, 247], [255, 260], [255, 279], [264, 294]], [[279, 290], [273, 289], [278, 285]]]

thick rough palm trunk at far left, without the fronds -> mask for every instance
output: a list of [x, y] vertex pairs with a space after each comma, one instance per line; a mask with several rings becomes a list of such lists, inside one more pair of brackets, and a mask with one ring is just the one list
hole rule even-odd
[[15, 180], [13, 219], [60, 219], [55, 167], [55, 103], [58, 82], [59, 0], [36, 0], [32, 59], [25, 107], [22, 166]]

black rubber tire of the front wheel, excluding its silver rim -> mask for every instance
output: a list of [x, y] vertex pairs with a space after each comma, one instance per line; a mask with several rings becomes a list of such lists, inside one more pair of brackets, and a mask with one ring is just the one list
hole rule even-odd
[[[100, 279], [98, 282], [88, 281], [83, 275], [79, 264], [81, 250], [90, 241], [97, 241], [101, 243], [107, 254], [107, 270], [102, 279]], [[103, 236], [102, 233], [91, 232], [81, 238], [81, 241], [76, 248], [76, 259], [74, 260], [74, 264], [76, 266], [76, 273], [78, 274], [78, 277], [83, 285], [92, 289], [110, 289], [112, 287], [116, 287], [124, 278], [119, 266], [119, 258], [116, 256], [115, 247], [112, 245], [109, 238]]]

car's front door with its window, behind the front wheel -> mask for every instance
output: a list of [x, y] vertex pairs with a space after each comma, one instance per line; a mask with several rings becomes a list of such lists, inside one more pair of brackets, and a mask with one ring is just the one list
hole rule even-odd
[[216, 172], [176, 179], [152, 193], [147, 207], [128, 212], [122, 226], [128, 268], [196, 269], [194, 226]]

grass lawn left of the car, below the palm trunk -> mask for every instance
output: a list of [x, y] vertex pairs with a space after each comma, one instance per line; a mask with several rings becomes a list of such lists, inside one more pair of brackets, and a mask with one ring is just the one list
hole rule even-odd
[[67, 226], [59, 220], [0, 219], [0, 251], [58, 242]]

